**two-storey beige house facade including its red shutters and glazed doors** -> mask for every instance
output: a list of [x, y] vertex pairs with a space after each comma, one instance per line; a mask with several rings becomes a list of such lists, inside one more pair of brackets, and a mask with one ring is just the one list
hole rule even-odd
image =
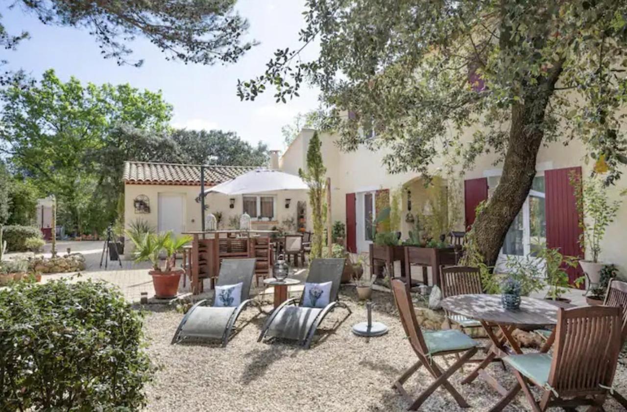
[[[295, 173], [305, 167], [308, 142], [314, 130], [304, 129], [287, 148], [280, 161], [283, 172]], [[425, 210], [436, 204], [446, 209], [446, 227], [464, 230], [475, 219], [475, 208], [486, 200], [497, 187], [502, 172], [502, 161], [497, 155], [478, 157], [474, 167], [462, 173], [443, 176], [442, 159], [435, 159], [431, 172], [440, 175], [440, 185], [445, 188], [448, 202], [433, 202], [429, 188], [425, 188], [417, 173], [387, 173], [382, 165], [384, 149], [372, 152], [360, 147], [355, 152], [341, 152], [335, 145], [337, 136], [320, 134], [322, 158], [331, 179], [332, 219], [345, 222], [347, 247], [352, 252], [366, 252], [372, 242], [370, 225], [376, 215], [377, 197], [391, 197], [396, 193], [401, 210], [402, 239], [406, 239], [413, 228], [411, 217], [416, 213], [433, 213]], [[588, 162], [587, 150], [581, 142], [569, 145], [551, 143], [540, 148], [537, 157], [537, 175], [529, 197], [520, 210], [503, 243], [501, 261], [507, 255], [523, 257], [534, 250], [535, 244], [559, 247], [563, 254], [582, 256], [579, 245], [581, 229], [574, 199], [574, 188], [569, 182], [571, 173], [587, 177], [593, 168]], [[621, 190], [627, 188], [627, 180], [619, 180], [608, 189], [611, 199], [619, 198]], [[454, 204], [451, 204], [454, 203]], [[623, 230], [627, 227], [627, 202], [623, 202], [617, 219], [609, 225], [601, 243], [600, 260], [618, 265], [621, 273], [627, 274], [627, 240]], [[589, 258], [589, 256], [586, 256]]]

